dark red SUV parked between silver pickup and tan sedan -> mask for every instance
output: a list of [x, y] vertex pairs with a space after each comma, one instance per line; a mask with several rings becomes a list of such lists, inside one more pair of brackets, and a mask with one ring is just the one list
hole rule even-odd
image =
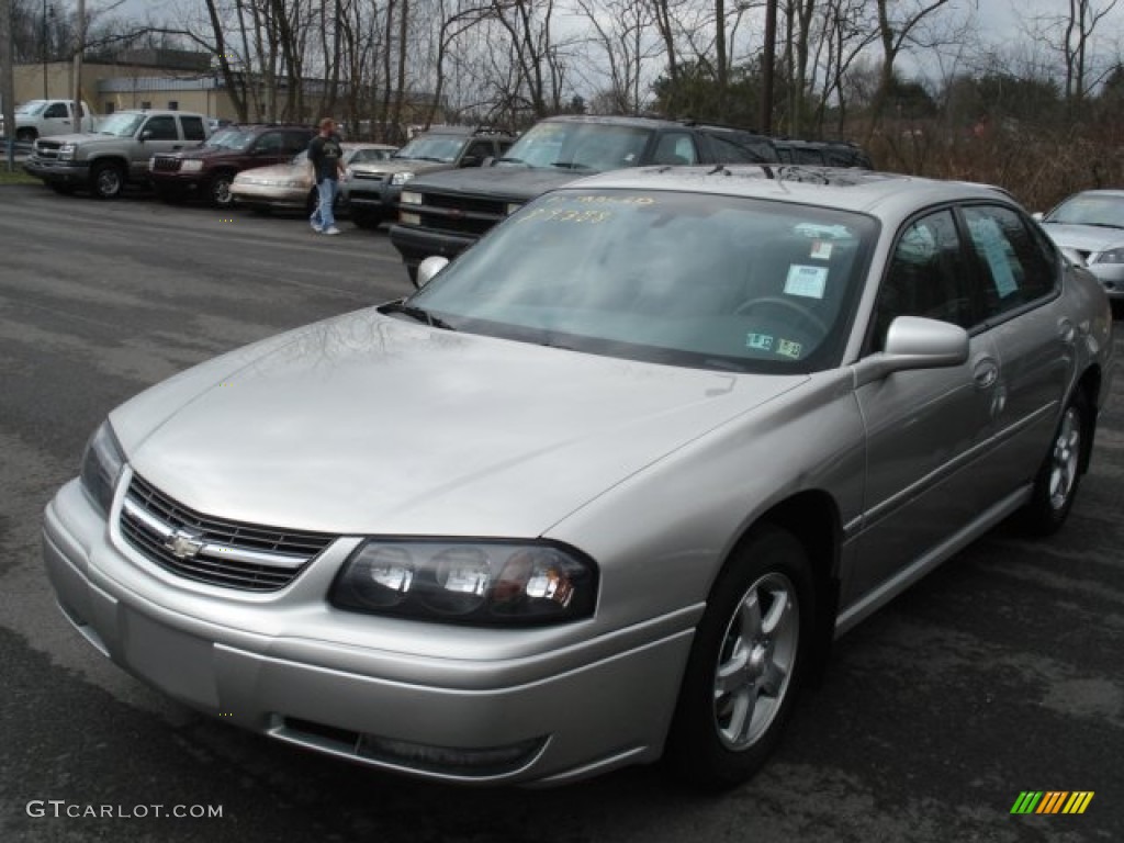
[[229, 207], [230, 182], [243, 170], [281, 164], [308, 148], [316, 129], [308, 126], [228, 126], [192, 149], [154, 155], [148, 176], [156, 196], [179, 201], [194, 193]]

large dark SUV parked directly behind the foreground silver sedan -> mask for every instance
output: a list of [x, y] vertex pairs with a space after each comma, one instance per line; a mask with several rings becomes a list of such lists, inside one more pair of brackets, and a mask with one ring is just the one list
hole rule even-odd
[[454, 257], [519, 206], [584, 175], [643, 164], [778, 162], [772, 140], [745, 129], [646, 117], [549, 117], [496, 166], [410, 182], [390, 239], [415, 279], [425, 257]]

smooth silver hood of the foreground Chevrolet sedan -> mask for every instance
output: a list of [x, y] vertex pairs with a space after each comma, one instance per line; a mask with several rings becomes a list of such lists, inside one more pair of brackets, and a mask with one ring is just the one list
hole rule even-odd
[[805, 380], [456, 334], [372, 308], [189, 370], [110, 420], [137, 473], [208, 515], [536, 536]]

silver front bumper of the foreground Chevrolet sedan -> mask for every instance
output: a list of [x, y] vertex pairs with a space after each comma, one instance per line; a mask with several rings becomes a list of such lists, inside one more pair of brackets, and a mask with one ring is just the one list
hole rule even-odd
[[193, 708], [316, 751], [465, 783], [561, 783], [662, 752], [694, 613], [584, 640], [570, 627], [568, 645], [484, 659], [481, 641], [543, 631], [336, 610], [324, 595], [357, 538], [337, 540], [280, 592], [175, 583], [124, 543], [112, 526], [119, 507], [107, 527], [78, 481], [63, 487], [45, 513], [47, 574], [91, 644]]

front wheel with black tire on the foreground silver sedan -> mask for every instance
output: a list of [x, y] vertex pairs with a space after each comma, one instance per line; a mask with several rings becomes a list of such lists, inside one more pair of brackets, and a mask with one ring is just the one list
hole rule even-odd
[[809, 663], [815, 611], [804, 545], [780, 527], [755, 527], [695, 631], [664, 754], [676, 776], [723, 790], [764, 764]]

